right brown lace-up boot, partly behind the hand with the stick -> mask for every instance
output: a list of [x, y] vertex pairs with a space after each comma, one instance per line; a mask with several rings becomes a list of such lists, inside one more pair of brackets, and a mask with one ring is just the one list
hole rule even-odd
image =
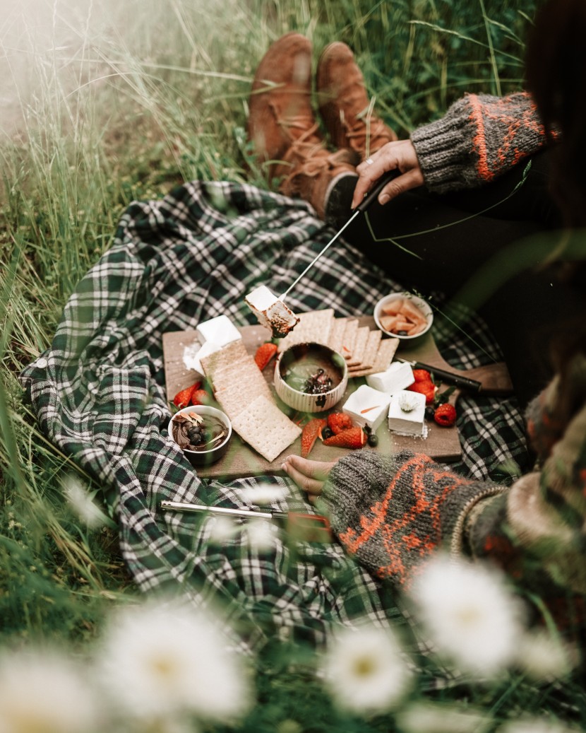
[[355, 151], [364, 161], [396, 133], [370, 108], [364, 77], [345, 43], [330, 43], [319, 58], [316, 75], [319, 112], [333, 145]]

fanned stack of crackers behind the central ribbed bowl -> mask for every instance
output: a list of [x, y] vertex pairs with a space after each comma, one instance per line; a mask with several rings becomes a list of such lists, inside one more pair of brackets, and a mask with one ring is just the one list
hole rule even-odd
[[357, 318], [336, 318], [331, 308], [298, 315], [299, 323], [281, 339], [279, 351], [300, 343], [324, 344], [344, 356], [349, 377], [384, 372], [399, 345], [399, 339], [383, 339], [378, 328], [359, 326]]

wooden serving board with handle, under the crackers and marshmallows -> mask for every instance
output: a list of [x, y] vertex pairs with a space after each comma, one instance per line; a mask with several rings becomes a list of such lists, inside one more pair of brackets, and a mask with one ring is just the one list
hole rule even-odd
[[[358, 320], [360, 325], [368, 325], [373, 329], [376, 328], [374, 318], [371, 316], [363, 316]], [[248, 353], [254, 354], [259, 345], [267, 340], [268, 331], [262, 325], [250, 325], [240, 328], [240, 333], [242, 334], [242, 341]], [[191, 369], [185, 369], [185, 364], [183, 363], [185, 347], [193, 344], [196, 338], [196, 331], [170, 331], [163, 334], [163, 359], [165, 364], [167, 399], [169, 402], [172, 401], [174, 395], [179, 390], [190, 386], [196, 381], [196, 372], [193, 372]], [[432, 367], [444, 369], [446, 372], [454, 375], [470, 377], [481, 382], [483, 394], [505, 394], [511, 391], [511, 380], [505, 364], [499, 362], [498, 364], [490, 364], [489, 366], [475, 369], [454, 369], [450, 367], [437, 350], [431, 332], [421, 336], [420, 339], [416, 339], [414, 342], [401, 342], [398, 346], [396, 357], [404, 358], [408, 361], [421, 361]], [[264, 376], [270, 385], [272, 394], [275, 396], [275, 402], [283, 412], [289, 416], [293, 416], [293, 410], [284, 405], [276, 397], [275, 389], [272, 386], [273, 369], [274, 361], [264, 370]], [[363, 383], [366, 383], [365, 377], [349, 379], [348, 388], [344, 397], [338, 403], [337, 409], [340, 409], [349, 395]], [[445, 387], [442, 387], [442, 389]], [[459, 394], [460, 390], [456, 388], [450, 394], [449, 402], [454, 404]], [[327, 413], [316, 413], [316, 416], [325, 417]], [[383, 421], [379, 430], [377, 430], [377, 436], [379, 438], [378, 446], [376, 448], [370, 448], [367, 445], [366, 448], [385, 454], [407, 448], [415, 452], [425, 453], [429, 457], [442, 462], [458, 460], [461, 455], [461, 446], [457, 427], [455, 425], [453, 427], [439, 427], [434, 421], [428, 421], [427, 427], [428, 435], [426, 438], [412, 438], [393, 434], [387, 430], [386, 421]], [[347, 449], [324, 446], [321, 441], [317, 440], [310, 457], [314, 460], [333, 461], [347, 452]], [[297, 438], [276, 460], [269, 462], [251, 449], [247, 443], [244, 443], [238, 435], [234, 434], [230, 449], [226, 455], [220, 458], [217, 463], [198, 467], [197, 472], [199, 476], [204, 478], [222, 479], [262, 475], [283, 476], [284, 473], [281, 469], [281, 464], [284, 458], [292, 453], [300, 453], [300, 438]]]

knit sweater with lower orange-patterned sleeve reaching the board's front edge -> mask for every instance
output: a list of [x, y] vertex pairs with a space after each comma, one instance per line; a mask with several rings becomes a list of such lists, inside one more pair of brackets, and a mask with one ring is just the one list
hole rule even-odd
[[557, 377], [531, 403], [527, 427], [542, 468], [511, 487], [466, 479], [409, 451], [339, 460], [322, 507], [338, 539], [372, 575], [404, 587], [440, 549], [491, 559], [560, 627], [586, 626], [585, 356], [574, 358], [571, 376], [571, 400], [581, 407], [560, 419]]

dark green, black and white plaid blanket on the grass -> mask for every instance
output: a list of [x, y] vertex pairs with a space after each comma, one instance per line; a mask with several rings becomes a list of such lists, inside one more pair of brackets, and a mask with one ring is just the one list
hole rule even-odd
[[[335, 625], [387, 624], [400, 614], [393, 592], [338, 544], [292, 548], [272, 526], [262, 542], [245, 526], [218, 541], [214, 517], [160, 512], [163, 499], [251, 507], [261, 484], [283, 490], [275, 509], [311, 511], [286, 477], [198, 476], [167, 437], [162, 334], [220, 314], [254, 323], [244, 296], [261, 283], [286, 290], [332, 235], [304, 202], [248, 185], [195, 181], [135, 202], [68, 301], [51, 347], [21, 374], [40, 429], [115, 506], [138, 587], [181, 592], [199, 606], [222, 603], [246, 649], [271, 638], [322, 644]], [[368, 314], [382, 295], [408, 286], [340, 240], [288, 302], [295, 312], [332, 306], [336, 316]], [[454, 366], [499, 358], [478, 321], [464, 335], [437, 318], [435, 334]], [[494, 478], [505, 460], [522, 460], [522, 418], [512, 401], [462, 396], [459, 413], [463, 454], [453, 468]]]

